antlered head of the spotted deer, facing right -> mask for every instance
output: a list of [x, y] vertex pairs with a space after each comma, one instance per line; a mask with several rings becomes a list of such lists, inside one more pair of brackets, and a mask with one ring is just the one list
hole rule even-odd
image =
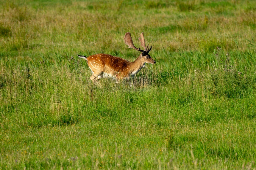
[[124, 35], [124, 43], [126, 45], [128, 45], [128, 48], [133, 48], [134, 50], [137, 50], [137, 51], [141, 52], [140, 57], [141, 57], [141, 61], [142, 62], [150, 63], [150, 64], [155, 64], [156, 61], [154, 61], [151, 58], [151, 56], [149, 55], [149, 52], [152, 49], [152, 46], [150, 46], [150, 48], [149, 48], [149, 45], [146, 46], [143, 32], [140, 34], [139, 41], [141, 42], [141, 46], [144, 48], [144, 50], [141, 50], [140, 48], [136, 48], [134, 46], [133, 41], [132, 41], [132, 36], [131, 36], [130, 32], [127, 32]]

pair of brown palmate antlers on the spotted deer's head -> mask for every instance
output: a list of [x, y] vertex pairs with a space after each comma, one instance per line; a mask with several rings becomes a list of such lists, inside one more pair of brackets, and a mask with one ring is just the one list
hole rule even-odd
[[143, 35], [143, 32], [140, 34], [140, 38], [139, 38], [140, 42], [141, 42], [141, 46], [144, 48], [144, 50], [141, 50], [140, 48], [136, 48], [132, 42], [132, 36], [131, 36], [131, 33], [130, 32], [127, 32], [125, 35], [124, 35], [124, 43], [126, 45], [128, 45], [128, 48], [133, 48], [137, 51], [140, 51], [140, 52], [147, 52], [149, 53], [149, 51], [151, 50], [152, 46], [150, 46], [150, 49], [149, 48], [149, 45], [146, 47], [145, 45], [145, 39], [144, 39], [144, 35]]

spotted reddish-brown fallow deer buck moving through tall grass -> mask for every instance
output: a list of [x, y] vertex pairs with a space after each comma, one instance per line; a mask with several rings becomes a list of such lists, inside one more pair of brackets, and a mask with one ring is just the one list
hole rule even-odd
[[128, 45], [128, 48], [141, 52], [139, 57], [133, 62], [109, 54], [95, 54], [89, 57], [78, 55], [78, 57], [87, 60], [88, 66], [93, 72], [90, 80], [96, 81], [102, 77], [113, 77], [119, 81], [126, 77], [134, 77], [136, 73], [145, 67], [145, 63], [156, 63], [149, 55], [152, 46], [149, 48], [149, 45], [145, 45], [143, 32], [140, 34], [139, 40], [144, 50], [133, 45], [131, 33], [127, 32], [124, 35], [124, 43]]

